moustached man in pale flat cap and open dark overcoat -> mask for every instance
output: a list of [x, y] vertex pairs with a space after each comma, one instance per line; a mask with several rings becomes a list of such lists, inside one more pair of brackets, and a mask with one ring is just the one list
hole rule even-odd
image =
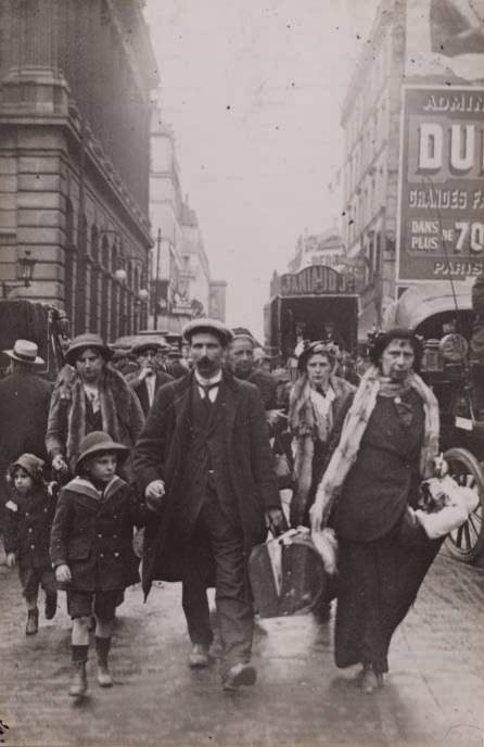
[[221, 367], [230, 330], [196, 319], [184, 334], [194, 369], [158, 390], [135, 450], [147, 503], [161, 504], [160, 521], [145, 530], [143, 584], [148, 594], [153, 579], [182, 581], [189, 663], [206, 667], [215, 565], [222, 687], [233, 691], [256, 679], [246, 558], [267, 524], [284, 519], [260, 395]]

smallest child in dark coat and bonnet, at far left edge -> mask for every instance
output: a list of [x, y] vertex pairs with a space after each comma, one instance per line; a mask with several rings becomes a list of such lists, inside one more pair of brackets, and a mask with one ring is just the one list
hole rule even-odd
[[22, 454], [9, 467], [7, 476], [13, 491], [5, 504], [3, 543], [7, 566], [18, 565], [27, 603], [27, 635], [39, 630], [39, 586], [46, 592], [46, 619], [52, 620], [58, 608], [58, 586], [49, 557], [55, 497], [43, 481], [43, 468], [42, 459], [34, 454]]

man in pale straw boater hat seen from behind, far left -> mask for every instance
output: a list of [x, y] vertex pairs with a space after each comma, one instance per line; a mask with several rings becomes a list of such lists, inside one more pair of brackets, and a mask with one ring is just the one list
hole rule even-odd
[[46, 430], [52, 387], [35, 374], [43, 364], [38, 346], [30, 340], [16, 340], [13, 350], [3, 351], [11, 359], [11, 374], [0, 381], [0, 490], [2, 504], [8, 496], [4, 474], [21, 454], [47, 459]]

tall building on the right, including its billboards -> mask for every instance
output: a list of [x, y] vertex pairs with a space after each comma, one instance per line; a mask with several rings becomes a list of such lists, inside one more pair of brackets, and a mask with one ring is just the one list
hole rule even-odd
[[484, 271], [483, 123], [483, 0], [382, 0], [342, 107], [361, 333], [409, 286]]

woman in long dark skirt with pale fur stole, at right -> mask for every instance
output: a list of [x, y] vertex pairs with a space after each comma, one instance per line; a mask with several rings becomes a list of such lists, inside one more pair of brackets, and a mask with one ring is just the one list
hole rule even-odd
[[374, 339], [311, 508], [315, 542], [328, 520], [339, 541], [334, 660], [362, 664], [367, 694], [383, 684], [392, 636], [443, 542], [413, 526], [408, 510], [438, 454], [438, 403], [416, 372], [421, 356], [409, 329]]

